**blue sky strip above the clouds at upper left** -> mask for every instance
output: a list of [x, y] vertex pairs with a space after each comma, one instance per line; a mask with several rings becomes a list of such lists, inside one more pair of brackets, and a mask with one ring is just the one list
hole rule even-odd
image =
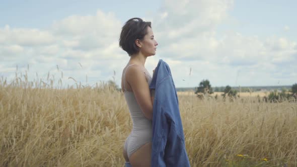
[[47, 28], [55, 20], [61, 20], [71, 15], [94, 15], [98, 9], [103, 12], [113, 12], [116, 17], [125, 22], [127, 19], [146, 13], [157, 12], [161, 1], [139, 1], [131, 0], [127, 3], [121, 1], [6, 1], [0, 6], [1, 26], [24, 28]]

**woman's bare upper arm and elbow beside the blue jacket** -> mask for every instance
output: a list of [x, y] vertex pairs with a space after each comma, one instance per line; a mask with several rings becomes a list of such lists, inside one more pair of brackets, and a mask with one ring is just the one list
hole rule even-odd
[[140, 106], [141, 111], [144, 116], [152, 120], [153, 118], [153, 101], [150, 93], [150, 89], [148, 88], [148, 84], [143, 74], [143, 71], [139, 69], [140, 67], [137, 65], [130, 66], [126, 73], [126, 79], [138, 105]]

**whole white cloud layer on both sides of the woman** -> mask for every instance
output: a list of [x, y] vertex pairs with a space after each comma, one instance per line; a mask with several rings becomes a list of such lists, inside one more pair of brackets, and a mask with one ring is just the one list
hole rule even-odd
[[[177, 87], [197, 86], [206, 78], [213, 86], [293, 81], [296, 42], [273, 35], [260, 39], [234, 31], [218, 34], [217, 26], [228, 19], [231, 8], [232, 0], [164, 1], [156, 15], [147, 16], [152, 20], [146, 20], [152, 21], [159, 43], [157, 55], [147, 58], [148, 71], [152, 73], [159, 58], [164, 59]], [[112, 79], [115, 71], [119, 85], [129, 60], [118, 46], [122, 25], [113, 13], [99, 10], [55, 21], [45, 30], [0, 28], [0, 58], [5, 59], [1, 68], [12, 77], [16, 64], [30, 64], [32, 77], [38, 72], [46, 78], [48, 71], [59, 77], [63, 71], [64, 84], [68, 77], [85, 82], [86, 75], [89, 83]]]

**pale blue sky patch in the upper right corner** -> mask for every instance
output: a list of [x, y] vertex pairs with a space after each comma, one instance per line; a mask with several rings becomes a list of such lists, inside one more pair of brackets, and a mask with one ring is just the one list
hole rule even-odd
[[297, 29], [297, 22], [292, 19], [297, 16], [296, 5], [296, 1], [235, 1], [230, 15], [238, 25], [233, 28], [245, 35], [267, 37], [274, 34], [296, 39], [296, 31], [283, 31], [284, 25]]

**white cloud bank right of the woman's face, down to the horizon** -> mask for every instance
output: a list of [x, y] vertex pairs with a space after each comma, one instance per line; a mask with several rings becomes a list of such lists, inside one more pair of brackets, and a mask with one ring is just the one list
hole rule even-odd
[[[271, 85], [275, 79], [269, 76], [271, 69], [286, 64], [297, 70], [290, 66], [297, 55], [294, 41], [274, 36], [263, 40], [233, 31], [217, 34], [217, 26], [228, 19], [231, 8], [233, 1], [165, 1], [154, 18], [153, 31], [159, 57], [182, 62], [171, 65], [176, 85], [195, 86], [191, 77], [197, 84], [209, 78], [217, 86]], [[191, 77], [187, 76], [190, 68]], [[246, 78], [237, 78], [239, 71]], [[181, 79], [187, 77], [191, 84]], [[290, 79], [284, 80], [289, 83]]]

